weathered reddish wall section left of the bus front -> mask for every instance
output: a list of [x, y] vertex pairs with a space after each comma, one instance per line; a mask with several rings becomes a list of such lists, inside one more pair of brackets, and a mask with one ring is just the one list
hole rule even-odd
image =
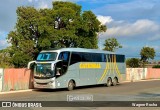
[[4, 69], [2, 91], [23, 90], [33, 88], [33, 74], [30, 70]]

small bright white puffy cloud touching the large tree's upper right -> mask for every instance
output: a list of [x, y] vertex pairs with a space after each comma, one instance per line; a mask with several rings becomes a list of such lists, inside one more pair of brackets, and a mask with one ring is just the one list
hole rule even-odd
[[101, 22], [101, 24], [106, 24], [110, 23], [113, 21], [111, 16], [102, 16], [102, 15], [97, 15], [97, 19]]

